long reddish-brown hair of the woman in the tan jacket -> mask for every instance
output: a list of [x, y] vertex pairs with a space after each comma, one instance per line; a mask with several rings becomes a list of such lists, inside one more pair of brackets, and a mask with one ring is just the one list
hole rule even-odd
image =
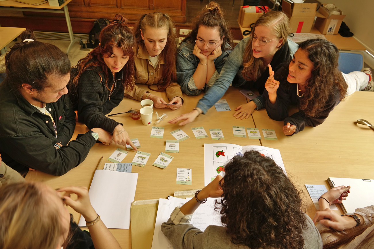
[[162, 92], [171, 82], [177, 82], [177, 67], [175, 66], [175, 62], [177, 61], [177, 44], [175, 43], [177, 34], [175, 33], [175, 25], [173, 19], [171, 19], [169, 15], [161, 12], [152, 12], [142, 15], [134, 32], [138, 46], [144, 46], [141, 37], [141, 30], [142, 32], [145, 32], [147, 27], [166, 28], [168, 30], [168, 39], [166, 40], [166, 45], [161, 52], [165, 61], [165, 67], [162, 70], [163, 84], [158, 84], [158, 89], [151, 89], [148, 86], [151, 90]]

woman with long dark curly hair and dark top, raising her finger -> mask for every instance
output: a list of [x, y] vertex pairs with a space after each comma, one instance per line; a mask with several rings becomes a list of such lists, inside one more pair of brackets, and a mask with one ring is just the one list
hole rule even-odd
[[[282, 67], [275, 76], [269, 67], [263, 95], [266, 111], [270, 118], [284, 120], [285, 135], [322, 124], [344, 98], [348, 85], [338, 70], [338, 57], [339, 51], [331, 42], [307, 40], [300, 43], [288, 67]], [[300, 111], [288, 116], [290, 104]]]

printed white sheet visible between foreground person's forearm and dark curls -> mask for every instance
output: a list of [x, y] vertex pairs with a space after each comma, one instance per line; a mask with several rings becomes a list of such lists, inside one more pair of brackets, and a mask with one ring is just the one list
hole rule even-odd
[[[186, 200], [189, 201], [194, 197], [187, 197]], [[190, 223], [199, 228], [201, 231], [205, 231], [206, 227], [209, 225], [223, 226], [221, 223], [220, 210], [214, 210], [215, 200], [220, 200], [220, 198], [208, 198], [206, 203], [197, 207], [195, 212], [193, 212], [192, 219]]]

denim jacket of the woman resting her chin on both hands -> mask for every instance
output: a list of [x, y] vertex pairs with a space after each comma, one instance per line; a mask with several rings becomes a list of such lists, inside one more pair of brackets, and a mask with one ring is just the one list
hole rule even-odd
[[190, 96], [199, 95], [202, 90], [205, 90], [206, 92], [213, 85], [226, 62], [227, 56], [229, 56], [232, 51], [230, 44], [226, 43], [226, 49], [222, 51], [220, 56], [214, 59], [216, 71], [209, 80], [208, 84], [205, 84], [205, 87], [202, 89], [197, 89], [192, 76], [195, 73], [200, 60], [193, 54], [194, 46], [194, 42], [183, 42], [179, 46], [177, 53], [178, 83], [181, 85], [182, 91]]

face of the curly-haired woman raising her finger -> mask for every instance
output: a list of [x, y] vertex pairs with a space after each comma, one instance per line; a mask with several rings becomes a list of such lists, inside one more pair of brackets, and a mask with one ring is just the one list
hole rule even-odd
[[308, 58], [308, 52], [299, 48], [289, 63], [287, 81], [304, 85], [312, 77], [313, 69], [314, 65]]

